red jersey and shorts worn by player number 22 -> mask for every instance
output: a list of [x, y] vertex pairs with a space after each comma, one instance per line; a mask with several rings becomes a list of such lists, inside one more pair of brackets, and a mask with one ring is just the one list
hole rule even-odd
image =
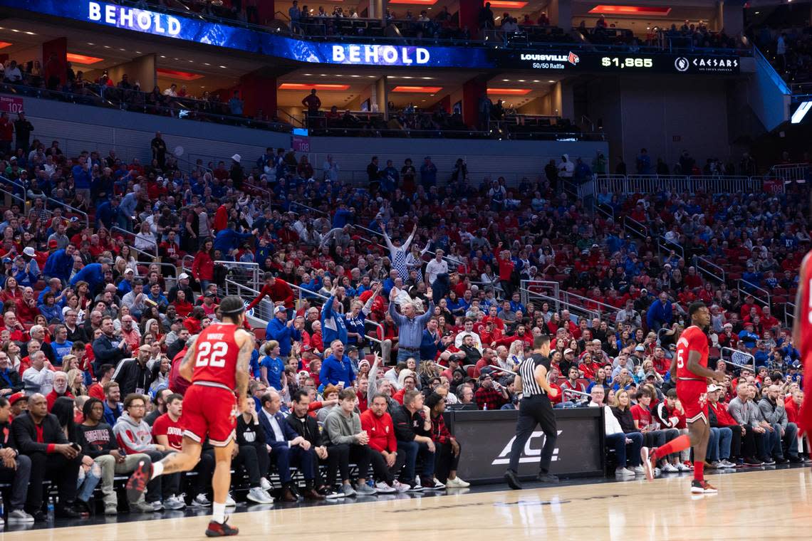
[[225, 447], [235, 436], [237, 403], [235, 373], [240, 348], [234, 340], [236, 326], [214, 324], [197, 337], [192, 384], [184, 396], [180, 426], [184, 436], [215, 447]]

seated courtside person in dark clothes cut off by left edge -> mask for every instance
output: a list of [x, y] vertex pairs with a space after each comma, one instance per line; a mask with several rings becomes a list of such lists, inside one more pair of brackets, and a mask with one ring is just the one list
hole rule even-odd
[[11, 500], [8, 504], [9, 522], [32, 522], [24, 511], [25, 495], [28, 492], [28, 479], [31, 476], [31, 459], [19, 454], [14, 443], [14, 435], [8, 423], [11, 403], [0, 397], [0, 481], [11, 482]]

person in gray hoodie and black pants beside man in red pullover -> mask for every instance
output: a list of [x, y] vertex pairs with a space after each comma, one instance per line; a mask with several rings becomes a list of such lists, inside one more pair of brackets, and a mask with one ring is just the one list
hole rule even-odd
[[[327, 415], [323, 435], [327, 453], [336, 453], [339, 456], [338, 466], [341, 470], [343, 483], [341, 488], [344, 496], [356, 496], [356, 493], [361, 496], [372, 496], [377, 491], [366, 484], [372, 451], [369, 449], [369, 434], [361, 430], [361, 416], [355, 411], [357, 403], [355, 390], [343, 389], [339, 393], [339, 405]], [[350, 484], [351, 460], [358, 466], [356, 490], [353, 490]], [[327, 471], [328, 487], [335, 485], [335, 473], [335, 467]]]

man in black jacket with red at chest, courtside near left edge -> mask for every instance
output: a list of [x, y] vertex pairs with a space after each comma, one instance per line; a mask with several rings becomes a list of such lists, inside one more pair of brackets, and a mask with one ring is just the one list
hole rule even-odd
[[54, 509], [56, 516], [81, 517], [73, 509], [81, 455], [71, 447], [56, 417], [48, 413], [44, 396], [35, 393], [28, 397], [28, 413], [14, 419], [11, 433], [19, 453], [31, 459], [31, 486], [26, 502], [28, 513], [37, 521], [47, 520], [42, 512], [42, 479], [45, 474], [50, 474], [59, 487], [59, 500]]

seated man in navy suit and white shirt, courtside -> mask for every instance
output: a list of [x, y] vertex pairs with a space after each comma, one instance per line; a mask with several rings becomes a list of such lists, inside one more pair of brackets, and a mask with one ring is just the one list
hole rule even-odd
[[296, 501], [293, 493], [291, 466], [300, 468], [304, 475], [305, 500], [324, 500], [324, 496], [316, 492], [313, 487], [315, 477], [314, 465], [317, 463], [315, 450], [308, 440], [299, 436], [290, 424], [285, 422], [285, 416], [279, 412], [282, 406], [282, 397], [274, 390], [262, 397], [262, 410], [259, 422], [265, 432], [265, 440], [270, 446], [270, 457], [279, 470], [279, 479], [283, 483], [282, 500]]

